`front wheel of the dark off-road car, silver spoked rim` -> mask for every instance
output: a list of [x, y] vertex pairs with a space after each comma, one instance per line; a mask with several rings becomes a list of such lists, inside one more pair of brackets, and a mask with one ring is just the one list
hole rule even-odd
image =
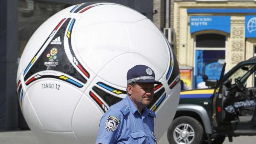
[[201, 123], [189, 116], [175, 118], [167, 131], [170, 144], [201, 144], [203, 136]]

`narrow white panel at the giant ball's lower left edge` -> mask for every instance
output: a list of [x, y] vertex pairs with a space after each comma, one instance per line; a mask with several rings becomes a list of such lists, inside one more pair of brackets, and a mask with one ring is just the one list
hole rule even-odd
[[29, 128], [33, 133], [37, 136], [43, 144], [48, 144], [47, 137], [45, 135], [45, 131], [43, 126], [41, 125], [40, 119], [38, 118], [27, 93], [23, 96], [22, 101], [22, 114], [29, 125]]

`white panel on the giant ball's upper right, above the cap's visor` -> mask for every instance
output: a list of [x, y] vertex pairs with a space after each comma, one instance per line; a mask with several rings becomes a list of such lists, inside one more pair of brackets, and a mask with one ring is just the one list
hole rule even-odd
[[168, 47], [161, 32], [149, 19], [125, 24], [129, 36], [131, 51], [150, 61], [162, 77], [169, 65]]

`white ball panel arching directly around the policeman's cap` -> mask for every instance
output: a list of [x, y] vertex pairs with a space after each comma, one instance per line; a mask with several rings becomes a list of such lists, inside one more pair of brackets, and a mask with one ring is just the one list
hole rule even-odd
[[156, 79], [161, 79], [161, 73], [159, 69], [155, 67], [152, 61], [148, 61], [144, 55], [134, 54], [134, 53], [126, 53], [119, 55], [112, 61], [110, 61], [99, 73], [98, 76], [104, 79], [105, 81], [109, 81], [116, 86], [126, 87], [127, 80], [126, 74], [127, 71], [134, 67], [135, 65], [147, 65], [155, 72]]

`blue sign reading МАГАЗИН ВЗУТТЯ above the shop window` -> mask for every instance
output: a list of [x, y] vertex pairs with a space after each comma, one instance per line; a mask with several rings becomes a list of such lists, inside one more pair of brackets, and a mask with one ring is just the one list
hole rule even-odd
[[217, 30], [230, 33], [230, 16], [190, 16], [190, 33]]

